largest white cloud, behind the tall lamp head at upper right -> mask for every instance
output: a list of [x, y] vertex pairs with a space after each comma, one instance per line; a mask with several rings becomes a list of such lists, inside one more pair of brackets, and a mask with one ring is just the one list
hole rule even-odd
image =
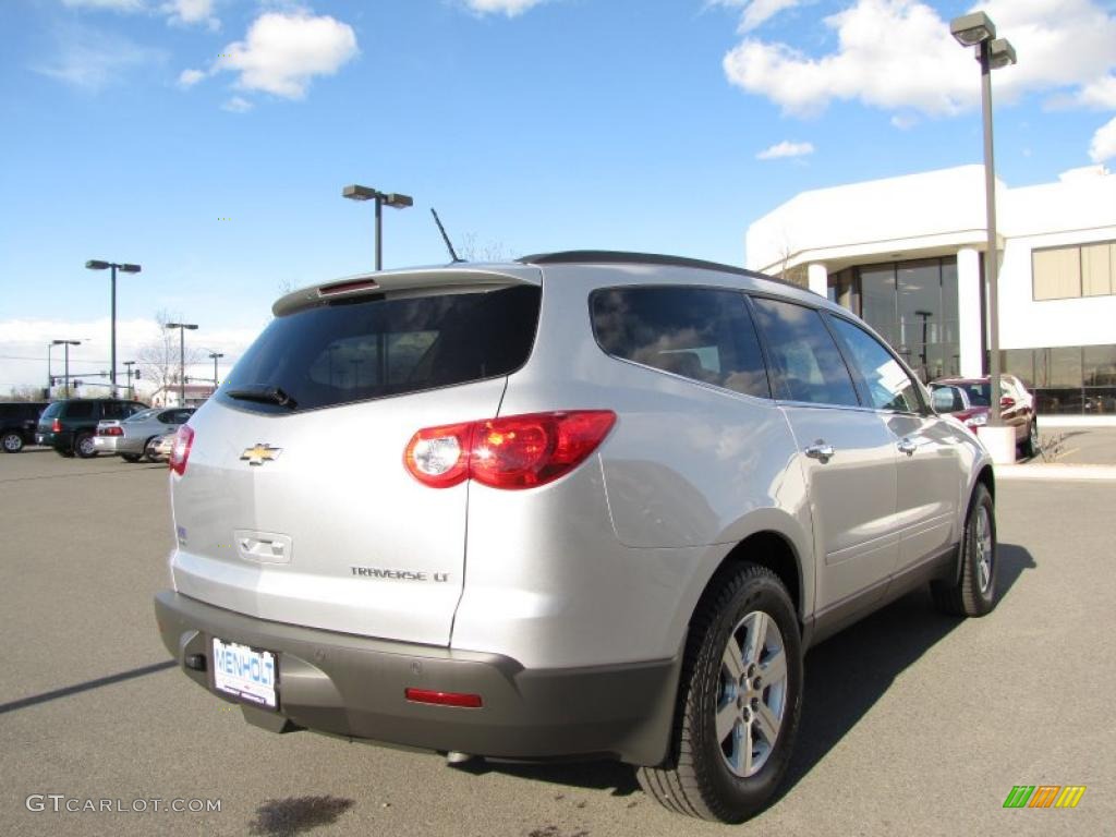
[[[981, 8], [1019, 54], [1018, 66], [997, 71], [998, 96], [1070, 88], [1078, 104], [1108, 100], [1116, 16], [1095, 0], [988, 0]], [[798, 116], [834, 99], [932, 115], [979, 100], [972, 54], [925, 2], [856, 0], [822, 22], [836, 50], [811, 56], [749, 37], [724, 57], [729, 81]]]

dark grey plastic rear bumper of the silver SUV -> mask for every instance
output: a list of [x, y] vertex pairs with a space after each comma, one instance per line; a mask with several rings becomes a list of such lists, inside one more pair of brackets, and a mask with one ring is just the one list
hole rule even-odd
[[[246, 710], [273, 731], [312, 729], [424, 750], [508, 759], [666, 757], [680, 660], [526, 670], [499, 654], [373, 639], [257, 619], [165, 590], [163, 644], [213, 692], [211, 637], [278, 655], [279, 713]], [[202, 655], [206, 671], [185, 667]], [[412, 703], [408, 687], [479, 694], [480, 709]], [[229, 700], [229, 695], [217, 693]]]

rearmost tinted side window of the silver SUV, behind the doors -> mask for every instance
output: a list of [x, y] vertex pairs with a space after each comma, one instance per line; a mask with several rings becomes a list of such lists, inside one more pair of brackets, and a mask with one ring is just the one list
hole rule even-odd
[[593, 295], [609, 355], [745, 395], [771, 397], [743, 295], [711, 288], [614, 288]]

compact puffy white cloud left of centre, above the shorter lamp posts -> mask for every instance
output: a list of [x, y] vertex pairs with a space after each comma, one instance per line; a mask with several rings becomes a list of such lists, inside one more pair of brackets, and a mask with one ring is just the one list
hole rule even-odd
[[331, 76], [357, 55], [347, 23], [305, 11], [268, 12], [249, 27], [244, 40], [225, 47], [213, 71], [239, 73], [237, 86], [298, 99], [315, 76]]

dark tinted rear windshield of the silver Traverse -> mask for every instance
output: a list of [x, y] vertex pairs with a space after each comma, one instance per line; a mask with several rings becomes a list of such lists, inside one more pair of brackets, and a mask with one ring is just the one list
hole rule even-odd
[[277, 387], [295, 410], [453, 386], [514, 372], [535, 343], [541, 290], [360, 298], [278, 317], [222, 383], [218, 398], [282, 413], [290, 404], [233, 397]]

